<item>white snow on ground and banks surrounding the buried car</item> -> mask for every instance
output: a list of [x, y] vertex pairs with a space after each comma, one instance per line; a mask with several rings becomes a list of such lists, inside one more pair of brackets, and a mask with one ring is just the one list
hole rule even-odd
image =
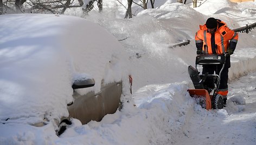
[[[118, 4], [113, 0], [110, 3]], [[193, 9], [162, 1], [158, 6], [140, 11], [132, 19], [119, 19], [124, 12], [116, 13], [114, 6], [112, 12], [106, 10], [99, 15], [92, 11], [86, 16], [118, 39], [126, 38], [120, 43], [130, 55], [131, 64], [127, 66], [133, 76], [134, 93], [132, 97], [123, 96], [126, 103], [121, 111], [83, 126], [73, 120], [60, 137], [55, 135], [52, 124], [40, 128], [1, 124], [0, 143], [255, 144], [256, 31], [239, 34], [229, 69], [227, 107], [207, 111], [196, 104], [187, 93], [193, 88], [187, 67], [194, 65], [194, 35], [199, 24], [208, 17], [222, 19], [232, 29], [255, 23], [256, 2], [202, 1], [199, 8]], [[82, 16], [77, 11], [74, 14]], [[189, 45], [171, 47], [186, 39], [191, 40]]]

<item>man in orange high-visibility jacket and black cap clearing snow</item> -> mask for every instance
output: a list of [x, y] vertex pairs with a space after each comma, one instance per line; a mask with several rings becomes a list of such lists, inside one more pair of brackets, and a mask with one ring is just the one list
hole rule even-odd
[[[236, 43], [238, 43], [238, 33], [229, 29], [227, 24], [220, 19], [208, 18], [206, 24], [200, 25], [200, 30], [196, 32], [196, 54], [227, 54], [225, 67], [221, 73], [220, 86], [217, 94], [222, 95], [223, 105], [226, 106], [228, 94], [228, 69], [231, 67], [230, 55], [233, 54]], [[222, 65], [213, 67], [203, 65], [202, 74], [220, 73]]]

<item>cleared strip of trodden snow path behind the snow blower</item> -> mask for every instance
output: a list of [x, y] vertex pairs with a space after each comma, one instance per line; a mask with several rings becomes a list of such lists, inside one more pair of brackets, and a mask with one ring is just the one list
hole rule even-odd
[[255, 144], [256, 73], [230, 82], [227, 107], [191, 110], [175, 144]]

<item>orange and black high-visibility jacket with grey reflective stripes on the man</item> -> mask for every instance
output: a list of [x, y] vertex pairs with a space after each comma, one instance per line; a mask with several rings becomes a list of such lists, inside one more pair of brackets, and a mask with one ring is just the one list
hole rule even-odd
[[207, 31], [206, 24], [200, 25], [195, 35], [196, 48], [206, 54], [223, 54], [228, 48], [235, 50], [238, 33], [229, 29], [227, 24], [217, 19], [217, 29], [212, 35]]

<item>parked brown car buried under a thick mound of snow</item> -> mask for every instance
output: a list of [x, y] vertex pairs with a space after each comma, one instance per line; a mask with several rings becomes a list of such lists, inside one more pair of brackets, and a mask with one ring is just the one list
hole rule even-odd
[[118, 109], [128, 57], [105, 29], [64, 15], [0, 19], [0, 123], [59, 131], [67, 118], [85, 124]]

